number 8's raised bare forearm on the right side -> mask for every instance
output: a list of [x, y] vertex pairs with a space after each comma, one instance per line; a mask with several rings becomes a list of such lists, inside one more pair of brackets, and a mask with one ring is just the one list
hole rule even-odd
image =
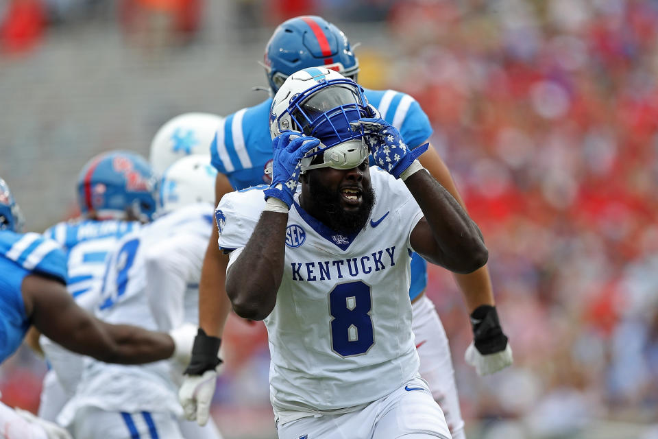
[[435, 261], [459, 273], [485, 265], [488, 252], [480, 229], [446, 188], [424, 170], [406, 178], [405, 183], [432, 230]]

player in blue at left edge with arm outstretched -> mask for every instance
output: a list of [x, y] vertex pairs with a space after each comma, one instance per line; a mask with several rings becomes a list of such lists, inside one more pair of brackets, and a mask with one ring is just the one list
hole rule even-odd
[[[53, 342], [100, 361], [142, 364], [169, 357], [186, 362], [193, 333], [169, 334], [94, 318], [66, 290], [66, 255], [55, 241], [20, 233], [21, 213], [0, 179], [0, 362], [19, 347], [32, 324]], [[0, 406], [3, 434], [16, 438], [69, 438], [60, 427]], [[27, 420], [27, 422], [26, 422]]]

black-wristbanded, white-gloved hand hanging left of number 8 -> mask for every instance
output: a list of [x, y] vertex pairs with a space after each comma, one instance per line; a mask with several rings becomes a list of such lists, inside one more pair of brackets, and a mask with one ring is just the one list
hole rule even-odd
[[210, 403], [221, 367], [219, 346], [219, 337], [206, 335], [199, 328], [194, 339], [190, 365], [184, 372], [183, 383], [178, 390], [178, 401], [183, 407], [185, 418], [197, 420], [199, 425], [206, 425], [210, 417]]

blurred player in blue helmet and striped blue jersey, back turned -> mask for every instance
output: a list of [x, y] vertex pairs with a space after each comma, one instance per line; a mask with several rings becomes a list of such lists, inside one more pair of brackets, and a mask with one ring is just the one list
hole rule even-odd
[[[93, 313], [100, 297], [105, 259], [117, 241], [156, 210], [156, 178], [147, 161], [128, 151], [111, 151], [91, 158], [77, 178], [80, 217], [48, 228], [44, 235], [66, 254], [66, 286], [80, 307]], [[30, 332], [33, 347], [37, 331]], [[49, 363], [41, 391], [39, 417], [55, 421], [82, 374], [82, 356], [42, 336], [38, 346]]]

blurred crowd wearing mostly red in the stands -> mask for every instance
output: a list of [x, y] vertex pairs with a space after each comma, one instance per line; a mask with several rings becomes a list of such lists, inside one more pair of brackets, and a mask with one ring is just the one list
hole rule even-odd
[[[66, 1], [8, 1], [5, 17], [38, 3]], [[341, 2], [265, 3], [280, 21]], [[238, 16], [258, 25], [267, 24], [262, 8], [236, 2]], [[463, 361], [472, 333], [454, 281], [434, 268], [427, 292], [450, 339], [467, 424], [484, 421], [483, 437], [512, 439], [571, 437], [598, 419], [658, 424], [658, 1], [345, 8], [387, 21], [395, 45], [357, 49], [359, 78], [419, 101], [489, 248], [513, 368], [477, 378]], [[263, 325], [232, 319], [226, 343], [217, 413], [267, 407]], [[5, 374], [5, 396], [24, 393], [8, 382]]]

